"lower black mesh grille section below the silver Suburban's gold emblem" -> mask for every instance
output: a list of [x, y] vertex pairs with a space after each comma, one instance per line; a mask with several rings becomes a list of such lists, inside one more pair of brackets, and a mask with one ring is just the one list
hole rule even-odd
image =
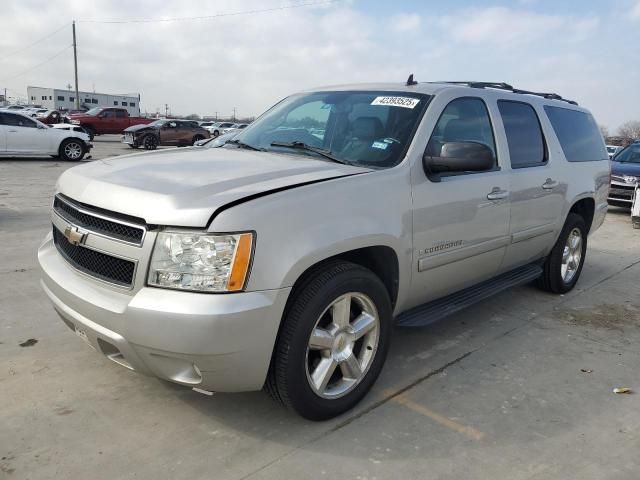
[[81, 272], [122, 287], [131, 287], [133, 284], [133, 275], [136, 269], [134, 262], [73, 245], [55, 226], [53, 227], [53, 241], [67, 262]]

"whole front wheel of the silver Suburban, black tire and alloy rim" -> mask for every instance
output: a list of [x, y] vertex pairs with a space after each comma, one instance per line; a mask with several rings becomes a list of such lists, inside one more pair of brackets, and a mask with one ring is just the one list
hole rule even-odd
[[[307, 275], [291, 295], [265, 388], [304, 418], [335, 417], [353, 408], [382, 370], [391, 340], [389, 294], [370, 270], [332, 262]], [[362, 320], [359, 328], [355, 318]]]

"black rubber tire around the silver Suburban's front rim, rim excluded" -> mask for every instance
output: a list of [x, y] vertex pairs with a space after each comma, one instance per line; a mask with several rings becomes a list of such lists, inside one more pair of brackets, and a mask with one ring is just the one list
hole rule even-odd
[[[392, 330], [392, 311], [389, 295], [382, 282], [370, 270], [356, 266], [335, 275], [321, 286], [311, 282], [305, 290], [312, 289], [313, 296], [299, 292], [285, 322], [296, 326], [288, 342], [288, 362], [285, 368], [287, 396], [290, 406], [310, 420], [324, 420], [343, 413], [355, 406], [376, 381], [389, 349]], [[365, 378], [347, 395], [336, 399], [319, 397], [309, 385], [306, 373], [306, 352], [311, 330], [322, 312], [340, 295], [361, 292], [375, 304], [380, 319], [376, 355]], [[304, 304], [301, 304], [303, 302]], [[338, 367], [340, 368], [340, 367]]]

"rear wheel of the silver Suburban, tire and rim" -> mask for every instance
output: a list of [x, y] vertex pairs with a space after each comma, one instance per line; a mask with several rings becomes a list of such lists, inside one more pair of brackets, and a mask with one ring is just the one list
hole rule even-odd
[[[578, 246], [572, 247], [577, 234], [579, 234], [580, 243]], [[574, 238], [571, 244], [569, 243], [570, 237]], [[579, 258], [576, 259], [578, 253]], [[537, 281], [538, 287], [551, 293], [567, 293], [572, 290], [580, 278], [586, 254], [586, 224], [580, 215], [570, 213], [556, 244], [544, 262], [543, 273]], [[569, 257], [565, 262], [566, 267], [563, 269], [565, 255], [569, 255]]]

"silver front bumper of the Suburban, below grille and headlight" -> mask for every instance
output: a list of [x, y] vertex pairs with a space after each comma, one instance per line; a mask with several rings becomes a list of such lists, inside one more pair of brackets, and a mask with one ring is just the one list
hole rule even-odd
[[204, 390], [262, 388], [290, 288], [124, 292], [74, 270], [51, 234], [38, 261], [42, 287], [64, 323], [115, 363]]

